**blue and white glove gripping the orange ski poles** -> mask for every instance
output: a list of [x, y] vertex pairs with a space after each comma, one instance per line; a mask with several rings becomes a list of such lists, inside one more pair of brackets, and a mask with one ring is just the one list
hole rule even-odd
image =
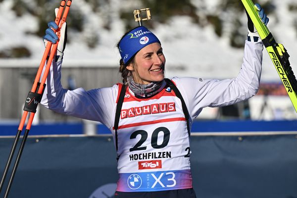
[[[55, 14], [57, 14], [58, 10], [59, 10], [58, 8], [55, 8]], [[59, 43], [57, 46], [56, 55], [62, 57], [64, 54], [64, 49], [67, 41], [67, 24], [66, 22], [64, 22], [60, 29], [60, 39], [53, 31], [58, 29], [58, 25], [54, 21], [50, 21], [48, 23], [48, 26], [49, 28], [46, 30], [46, 35], [43, 37], [44, 44], [47, 47], [48, 42], [52, 44], [56, 44], [58, 41]]]

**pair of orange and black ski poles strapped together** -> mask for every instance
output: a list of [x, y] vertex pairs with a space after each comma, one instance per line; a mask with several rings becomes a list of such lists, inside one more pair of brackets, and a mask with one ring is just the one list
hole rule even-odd
[[[68, 2], [69, 1], [69, 2]], [[55, 18], [55, 23], [57, 25], [59, 25], [60, 21], [61, 21], [61, 15], [62, 15], [62, 12], [63, 12], [63, 9], [64, 9], [64, 6], [66, 4], [66, 6], [68, 7], [68, 10], [64, 11], [64, 14], [63, 14], [63, 20], [65, 22], [66, 20], [66, 17], [67, 17], [67, 14], [68, 14], [68, 11], [69, 11], [69, 7], [71, 5], [71, 0], [68, 0], [67, 3], [65, 0], [62, 0], [60, 2], [60, 7], [59, 7], [59, 10], [57, 12], [57, 16]], [[66, 9], [65, 9], [66, 10]], [[61, 25], [60, 25], [61, 27]], [[58, 35], [59, 37], [59, 35]], [[29, 95], [28, 95], [28, 98], [26, 99], [26, 102], [29, 103], [29, 105], [31, 103], [33, 103], [34, 101], [34, 105], [33, 105], [33, 108], [31, 107], [30, 109], [26, 109], [26, 105], [24, 107], [24, 113], [23, 113], [23, 116], [22, 116], [22, 119], [20, 121], [20, 125], [19, 125], [19, 128], [18, 128], [18, 131], [17, 131], [17, 134], [15, 136], [15, 140], [14, 140], [14, 144], [11, 148], [11, 151], [10, 151], [10, 154], [9, 154], [9, 157], [8, 157], [8, 160], [7, 160], [7, 163], [6, 163], [6, 166], [5, 166], [5, 169], [4, 169], [4, 173], [3, 173], [3, 177], [1, 179], [1, 183], [0, 183], [0, 192], [1, 192], [1, 189], [3, 187], [3, 184], [4, 184], [4, 180], [6, 178], [6, 175], [7, 175], [7, 172], [8, 172], [8, 169], [9, 169], [9, 166], [10, 166], [10, 163], [11, 163], [11, 160], [12, 160], [12, 157], [13, 157], [13, 154], [14, 154], [14, 151], [15, 151], [15, 148], [16, 148], [16, 145], [18, 143], [18, 140], [19, 140], [19, 137], [20, 137], [20, 134], [22, 132], [22, 129], [24, 127], [24, 124], [25, 124], [25, 120], [27, 118], [27, 115], [28, 115], [28, 112], [30, 111], [31, 114], [30, 114], [30, 118], [29, 118], [29, 121], [28, 121], [28, 124], [27, 124], [27, 127], [26, 127], [26, 131], [25, 131], [25, 134], [23, 136], [23, 140], [22, 140], [22, 144], [19, 148], [19, 152], [18, 152], [18, 155], [17, 155], [17, 158], [16, 158], [16, 161], [15, 161], [15, 164], [14, 164], [14, 167], [13, 167], [13, 171], [12, 171], [12, 174], [11, 174], [11, 177], [10, 177], [10, 180], [9, 180], [9, 183], [8, 183], [8, 187], [6, 189], [6, 192], [5, 192], [5, 197], [6, 198], [8, 196], [8, 193], [9, 193], [9, 190], [10, 190], [10, 187], [11, 187], [11, 184], [12, 184], [12, 181], [13, 181], [13, 178], [14, 178], [14, 175], [15, 175], [15, 172], [16, 172], [16, 169], [17, 169], [17, 166], [18, 166], [18, 163], [19, 163], [19, 160], [20, 160], [20, 157], [21, 157], [21, 154], [22, 154], [22, 151], [23, 151], [23, 148], [25, 146], [25, 142], [26, 142], [26, 139], [27, 139], [27, 136], [28, 136], [28, 133], [29, 133], [29, 130], [31, 128], [31, 124], [33, 122], [33, 118], [34, 118], [34, 114], [36, 112], [36, 108], [37, 108], [37, 104], [38, 102], [40, 102], [40, 99], [42, 97], [42, 93], [44, 91], [44, 88], [45, 88], [45, 80], [43, 81], [43, 83], [39, 83], [39, 80], [40, 80], [40, 77], [41, 77], [41, 74], [42, 74], [42, 70], [43, 70], [43, 67], [45, 65], [45, 62], [46, 62], [46, 59], [48, 57], [48, 54], [49, 54], [49, 51], [51, 49], [51, 43], [49, 42], [46, 49], [45, 49], [45, 52], [44, 52], [44, 55], [43, 55], [43, 58], [42, 58], [42, 61], [40, 63], [40, 66], [39, 66], [39, 69], [38, 69], [38, 72], [37, 72], [37, 75], [36, 75], [36, 78], [35, 78], [35, 81], [34, 81], [34, 84], [32, 86], [32, 89], [31, 89], [31, 92], [29, 92]], [[50, 54], [53, 54], [55, 53], [55, 50], [56, 50], [56, 47], [55, 49], [53, 48], [50, 52]], [[53, 55], [50, 55], [51, 57], [53, 57]], [[52, 59], [50, 60], [49, 59], [49, 62], [51, 63]], [[48, 68], [49, 70], [49, 68]], [[46, 72], [45, 75], [48, 75], [49, 71]], [[39, 89], [38, 89], [39, 88]], [[36, 91], [38, 89], [38, 92], [36, 95]], [[37, 101], [37, 102], [36, 102]], [[35, 103], [36, 102], [36, 103]]]

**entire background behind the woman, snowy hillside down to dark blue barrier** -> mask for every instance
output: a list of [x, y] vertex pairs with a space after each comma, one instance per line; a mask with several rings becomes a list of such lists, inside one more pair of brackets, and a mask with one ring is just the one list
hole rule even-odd
[[[288, 50], [297, 74], [297, 1], [254, 2], [265, 9], [268, 28]], [[45, 50], [42, 37], [59, 3], [0, 0], [0, 174]], [[121, 82], [116, 44], [138, 25], [133, 10], [146, 7], [152, 20], [144, 25], [162, 43], [167, 78], [237, 76], [247, 38], [241, 0], [73, 0], [63, 87], [89, 90]], [[297, 198], [297, 113], [266, 49], [263, 54], [256, 96], [205, 108], [193, 123], [191, 171], [197, 197]], [[33, 125], [12, 198], [113, 197], [116, 151], [106, 127], [42, 105]]]

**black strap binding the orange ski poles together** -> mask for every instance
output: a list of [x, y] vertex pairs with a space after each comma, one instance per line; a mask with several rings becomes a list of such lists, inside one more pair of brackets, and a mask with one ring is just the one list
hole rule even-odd
[[[36, 92], [39, 90], [39, 87], [40, 87], [40, 83], [37, 84]], [[25, 101], [25, 105], [23, 109], [24, 111], [36, 113], [38, 103], [41, 102], [45, 88], [46, 88], [46, 84], [44, 84], [44, 88], [41, 94], [38, 94], [36, 92], [29, 92], [27, 99]]]

